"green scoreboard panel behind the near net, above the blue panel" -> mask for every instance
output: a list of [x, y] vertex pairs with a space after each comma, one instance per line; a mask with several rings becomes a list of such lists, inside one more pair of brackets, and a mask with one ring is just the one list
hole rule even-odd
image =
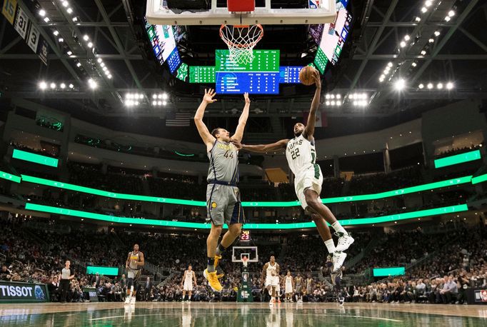
[[216, 71], [279, 71], [279, 50], [253, 50], [253, 61], [239, 64], [230, 60], [230, 50], [216, 50]]

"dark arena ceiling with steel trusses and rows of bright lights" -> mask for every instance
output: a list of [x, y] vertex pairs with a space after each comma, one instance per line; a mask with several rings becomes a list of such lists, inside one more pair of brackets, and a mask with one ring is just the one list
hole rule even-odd
[[[29, 99], [81, 119], [87, 114], [164, 118], [167, 111], [195, 111], [204, 86], [184, 84], [174, 79], [166, 66], [156, 63], [142, 25], [145, 1], [68, 1], [71, 13], [64, 2], [18, 0], [49, 45], [46, 65], [1, 16], [3, 99]], [[296, 6], [299, 2], [283, 4]], [[40, 9], [44, 9], [45, 16], [39, 15]], [[327, 106], [323, 94], [323, 110], [328, 116], [385, 118], [401, 112], [417, 114], [461, 99], [487, 97], [484, 1], [351, 0], [351, 12], [351, 38], [337, 66], [326, 72], [323, 87], [325, 94], [341, 94], [346, 101], [339, 107]], [[264, 27], [266, 37], [258, 45], [261, 49], [279, 47], [286, 64], [311, 61], [309, 56], [316, 51], [316, 44], [306, 26]], [[54, 35], [54, 31], [59, 34]], [[85, 40], [85, 35], [89, 39]], [[190, 64], [211, 62], [214, 49], [224, 47], [215, 27], [191, 26], [187, 35], [179, 49], [183, 60]], [[100, 60], [109, 74], [102, 70]], [[96, 81], [96, 89], [90, 88], [89, 79]], [[405, 83], [401, 91], [395, 88], [399, 79]], [[46, 90], [39, 89], [40, 81], [46, 81]], [[448, 82], [453, 89], [446, 90]], [[55, 91], [51, 91], [50, 83], [56, 84]], [[66, 84], [65, 89], [60, 89], [61, 83]], [[432, 89], [428, 89], [429, 83]], [[443, 89], [438, 89], [439, 83]], [[419, 84], [423, 84], [422, 89]], [[161, 91], [170, 95], [169, 104], [151, 106], [150, 96]], [[253, 96], [253, 115], [302, 115], [309, 108], [312, 91], [301, 85], [285, 86], [279, 96]], [[147, 104], [128, 110], [123, 99], [129, 92], [144, 94]], [[348, 98], [356, 93], [368, 95], [368, 106], [353, 105]], [[236, 116], [235, 109], [240, 106], [240, 97], [222, 96], [208, 116]]]

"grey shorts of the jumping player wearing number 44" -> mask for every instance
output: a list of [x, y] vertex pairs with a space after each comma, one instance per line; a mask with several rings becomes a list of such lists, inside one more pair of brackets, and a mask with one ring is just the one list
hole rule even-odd
[[206, 186], [206, 210], [208, 221], [215, 226], [222, 226], [224, 223], [245, 223], [242, 203], [240, 201], [240, 190], [236, 186], [208, 184]]

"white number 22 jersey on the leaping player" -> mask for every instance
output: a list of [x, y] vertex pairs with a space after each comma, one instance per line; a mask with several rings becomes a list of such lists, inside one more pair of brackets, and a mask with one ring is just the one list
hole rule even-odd
[[294, 175], [312, 167], [316, 164], [314, 141], [308, 141], [303, 134], [291, 139], [286, 146], [286, 159]]

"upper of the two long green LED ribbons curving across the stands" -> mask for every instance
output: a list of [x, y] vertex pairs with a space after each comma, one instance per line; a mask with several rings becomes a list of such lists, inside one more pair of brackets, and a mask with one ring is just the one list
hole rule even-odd
[[[487, 175], [486, 175], [487, 176]], [[50, 181], [49, 179], [21, 175], [22, 181], [28, 183], [37, 183], [46, 186], [52, 186], [57, 188], [64, 188], [70, 191], [77, 191], [82, 193], [94, 194], [97, 196], [106, 196], [108, 198], [120, 198], [122, 200], [133, 200], [133, 201], [146, 201], [146, 202], [158, 202], [158, 203], [170, 203], [170, 204], [182, 204], [187, 206], [206, 206], [206, 201], [193, 201], [193, 200], [181, 200], [178, 198], [160, 198], [156, 196], [139, 196], [134, 194], [124, 194], [124, 193], [114, 193], [109, 191], [102, 191], [96, 188], [89, 188], [85, 186], [77, 186], [70, 183], [62, 183], [59, 181]], [[481, 178], [481, 176], [478, 176]], [[343, 202], [354, 202], [354, 201], [368, 201], [377, 200], [379, 198], [390, 198], [393, 196], [403, 196], [408, 193], [415, 193], [421, 191], [429, 191], [435, 188], [443, 188], [448, 186], [460, 185], [463, 183], [471, 183], [472, 176], [464, 176], [459, 178], [448, 179], [446, 181], [437, 181], [435, 183], [428, 183], [419, 186], [412, 186], [408, 188], [401, 188], [394, 191], [386, 191], [382, 193], [375, 194], [365, 194], [360, 196], [340, 196], [338, 198], [323, 198], [321, 202], [327, 203], [343, 203]], [[478, 182], [480, 183], [480, 181]], [[242, 206], [250, 207], [290, 207], [290, 206], [300, 206], [298, 201], [277, 201], [277, 202], [256, 202], [256, 201], [244, 201]]]

